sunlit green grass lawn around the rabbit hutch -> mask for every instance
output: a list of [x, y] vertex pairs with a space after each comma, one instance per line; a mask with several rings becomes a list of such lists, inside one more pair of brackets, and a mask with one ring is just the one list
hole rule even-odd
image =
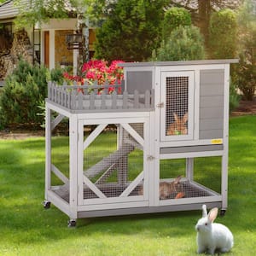
[[[217, 220], [235, 237], [227, 255], [256, 254], [255, 127], [256, 116], [230, 119], [229, 208]], [[0, 255], [197, 255], [199, 211], [79, 219], [68, 229], [42, 201], [44, 137], [0, 140]]]

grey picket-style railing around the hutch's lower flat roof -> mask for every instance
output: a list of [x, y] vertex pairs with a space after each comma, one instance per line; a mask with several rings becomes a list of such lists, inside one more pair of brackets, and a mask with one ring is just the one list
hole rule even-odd
[[[139, 94], [122, 91], [119, 84], [48, 84], [48, 101], [75, 113], [99, 111], [144, 111], [154, 109], [154, 90]], [[111, 93], [109, 93], [111, 90]]]

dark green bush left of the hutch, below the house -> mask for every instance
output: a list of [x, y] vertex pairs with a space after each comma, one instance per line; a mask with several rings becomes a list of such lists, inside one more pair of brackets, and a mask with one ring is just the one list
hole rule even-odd
[[0, 96], [1, 128], [11, 124], [40, 124], [44, 117], [38, 115], [38, 105], [47, 96], [49, 70], [20, 60], [14, 72], [5, 81]]

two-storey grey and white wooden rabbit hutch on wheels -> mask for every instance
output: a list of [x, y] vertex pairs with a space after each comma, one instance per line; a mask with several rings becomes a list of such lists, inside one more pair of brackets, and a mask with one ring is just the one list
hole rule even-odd
[[[202, 204], [225, 212], [230, 63], [236, 62], [122, 63], [121, 85], [49, 83], [44, 207], [53, 203], [65, 212], [69, 226], [77, 218]], [[54, 147], [61, 145], [52, 131], [63, 120], [69, 137], [58, 160]]]

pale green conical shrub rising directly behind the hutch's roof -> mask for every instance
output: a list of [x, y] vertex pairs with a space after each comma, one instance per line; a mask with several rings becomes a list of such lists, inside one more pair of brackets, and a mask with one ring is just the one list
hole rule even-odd
[[199, 28], [178, 26], [153, 52], [153, 61], [189, 61], [204, 59], [204, 44]]

